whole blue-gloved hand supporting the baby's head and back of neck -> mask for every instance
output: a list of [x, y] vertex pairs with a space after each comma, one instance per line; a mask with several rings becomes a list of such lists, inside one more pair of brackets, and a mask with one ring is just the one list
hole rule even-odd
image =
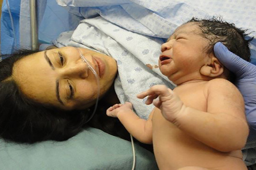
[[230, 52], [221, 42], [214, 45], [214, 53], [236, 75], [236, 87], [244, 97], [247, 121], [256, 130], [256, 66]]

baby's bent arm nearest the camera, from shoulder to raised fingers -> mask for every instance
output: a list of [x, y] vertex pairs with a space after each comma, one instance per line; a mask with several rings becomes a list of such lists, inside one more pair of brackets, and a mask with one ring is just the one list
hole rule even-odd
[[248, 136], [242, 95], [223, 79], [211, 80], [207, 93], [207, 112], [186, 107], [175, 92], [162, 86], [153, 86], [138, 97], [149, 95], [146, 103], [150, 104], [160, 95], [154, 105], [161, 109], [165, 119], [198, 141], [222, 152], [241, 149]]

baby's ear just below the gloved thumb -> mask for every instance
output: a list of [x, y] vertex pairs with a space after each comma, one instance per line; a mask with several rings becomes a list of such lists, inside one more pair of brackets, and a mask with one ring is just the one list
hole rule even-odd
[[202, 75], [212, 77], [212, 78], [220, 76], [223, 72], [224, 72], [224, 66], [215, 57], [213, 52], [209, 56], [207, 56], [205, 65], [202, 66], [200, 69], [200, 73]]

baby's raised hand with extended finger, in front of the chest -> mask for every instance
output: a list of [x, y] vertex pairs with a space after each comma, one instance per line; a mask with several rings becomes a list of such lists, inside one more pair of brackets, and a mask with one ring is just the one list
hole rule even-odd
[[[139, 99], [146, 96], [148, 96], [148, 99], [145, 104], [150, 105], [153, 102], [154, 106], [162, 111], [164, 118], [172, 123], [179, 116], [181, 109], [185, 108], [178, 95], [165, 85], [154, 85], [146, 92], [137, 95]], [[154, 100], [157, 97], [159, 97], [159, 100]]]

